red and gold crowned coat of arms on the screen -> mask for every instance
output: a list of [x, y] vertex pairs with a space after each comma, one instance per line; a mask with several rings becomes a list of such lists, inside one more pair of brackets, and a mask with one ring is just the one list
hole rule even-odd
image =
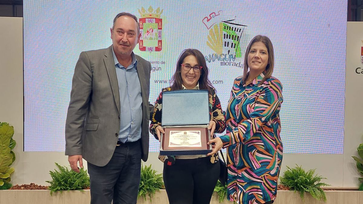
[[150, 6], [147, 11], [142, 7], [139, 9], [141, 18], [140, 23], [140, 42], [139, 49], [141, 51], [161, 51], [162, 49], [162, 29], [163, 21], [160, 18], [163, 10], [154, 9]]

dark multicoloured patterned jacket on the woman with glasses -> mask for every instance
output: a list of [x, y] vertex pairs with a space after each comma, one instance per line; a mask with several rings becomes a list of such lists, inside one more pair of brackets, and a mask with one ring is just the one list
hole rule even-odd
[[[183, 87], [183, 89], [185, 89]], [[198, 85], [194, 89], [199, 89]], [[171, 87], [167, 87], [162, 89], [164, 91], [170, 91]], [[156, 139], [158, 136], [156, 135], [156, 127], [161, 125], [161, 116], [162, 116], [162, 92], [159, 94], [159, 97], [156, 99], [154, 106], [154, 113], [152, 114], [151, 124], [150, 124], [150, 132], [154, 135]], [[221, 108], [221, 103], [219, 98], [216, 95], [216, 91], [212, 88], [212, 93], [209, 93], [209, 118], [216, 123], [215, 133], [222, 133], [226, 128], [225, 117]], [[159, 155], [159, 159], [162, 162], [167, 162], [167, 165], [173, 165], [175, 163], [175, 156], [162, 156]], [[211, 163], [215, 163], [218, 161], [218, 155], [211, 156]]]

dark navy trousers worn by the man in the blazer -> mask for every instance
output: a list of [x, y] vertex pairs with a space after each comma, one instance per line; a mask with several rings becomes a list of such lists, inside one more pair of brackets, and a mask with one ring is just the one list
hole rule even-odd
[[87, 162], [91, 204], [134, 204], [140, 184], [140, 140], [117, 146], [103, 167]]

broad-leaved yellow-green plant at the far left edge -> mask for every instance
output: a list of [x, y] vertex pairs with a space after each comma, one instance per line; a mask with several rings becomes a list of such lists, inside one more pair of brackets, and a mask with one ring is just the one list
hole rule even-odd
[[16, 146], [13, 135], [14, 127], [9, 123], [0, 122], [0, 189], [12, 187], [10, 175], [15, 169], [10, 166], [15, 161], [13, 149]]

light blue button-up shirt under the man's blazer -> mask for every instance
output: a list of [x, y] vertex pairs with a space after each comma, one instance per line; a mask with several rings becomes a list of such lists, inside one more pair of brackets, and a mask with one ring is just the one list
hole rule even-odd
[[120, 93], [120, 132], [118, 140], [122, 143], [135, 142], [141, 138], [142, 97], [136, 57], [132, 52], [132, 63], [127, 68], [119, 64], [114, 50], [112, 54]]

